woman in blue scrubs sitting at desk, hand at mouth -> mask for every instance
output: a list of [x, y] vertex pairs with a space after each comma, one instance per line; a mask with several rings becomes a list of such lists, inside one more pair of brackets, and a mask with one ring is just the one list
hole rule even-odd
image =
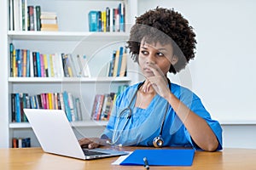
[[127, 42], [144, 82], [127, 88], [113, 107], [101, 139], [81, 145], [183, 146], [222, 149], [222, 129], [188, 88], [172, 83], [167, 73], [181, 71], [195, 57], [195, 33], [173, 9], [155, 8], [137, 17]]

